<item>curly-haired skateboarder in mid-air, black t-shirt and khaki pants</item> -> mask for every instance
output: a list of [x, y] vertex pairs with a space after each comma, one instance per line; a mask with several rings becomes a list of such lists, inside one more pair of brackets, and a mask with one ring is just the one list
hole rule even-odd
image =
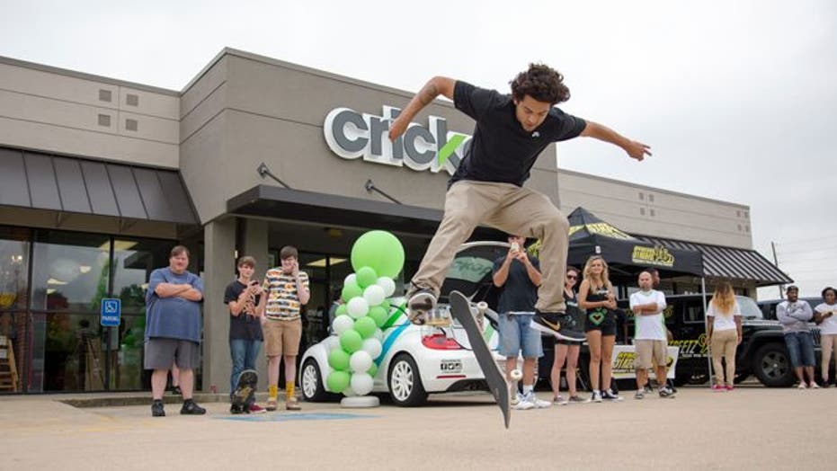
[[532, 165], [553, 142], [585, 136], [622, 147], [643, 160], [649, 147], [590, 120], [561, 111], [555, 105], [569, 99], [564, 76], [550, 67], [532, 64], [512, 81], [512, 94], [478, 88], [451, 78], [433, 77], [391, 123], [389, 138], [401, 136], [415, 115], [440, 94], [459, 111], [476, 120], [474, 137], [450, 179], [445, 215], [408, 294], [410, 320], [435, 304], [450, 262], [480, 224], [523, 237], [540, 239], [543, 283], [533, 322], [557, 332], [565, 312], [564, 271], [569, 224], [546, 195], [524, 188]]

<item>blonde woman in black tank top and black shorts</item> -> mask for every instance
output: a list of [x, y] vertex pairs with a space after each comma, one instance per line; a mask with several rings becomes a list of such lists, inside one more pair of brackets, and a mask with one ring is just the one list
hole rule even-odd
[[[602, 399], [621, 401], [619, 395], [610, 389], [610, 375], [613, 370], [613, 345], [616, 343], [616, 296], [610, 284], [608, 263], [599, 255], [587, 259], [584, 264], [583, 281], [578, 289], [578, 306], [587, 311], [584, 317], [584, 333], [590, 347], [590, 385], [592, 402]], [[601, 384], [608, 388], [600, 389]]]

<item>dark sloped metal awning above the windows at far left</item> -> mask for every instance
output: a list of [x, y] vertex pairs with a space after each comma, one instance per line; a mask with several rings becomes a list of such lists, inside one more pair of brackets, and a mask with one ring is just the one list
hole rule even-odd
[[197, 225], [175, 170], [0, 147], [0, 205]]

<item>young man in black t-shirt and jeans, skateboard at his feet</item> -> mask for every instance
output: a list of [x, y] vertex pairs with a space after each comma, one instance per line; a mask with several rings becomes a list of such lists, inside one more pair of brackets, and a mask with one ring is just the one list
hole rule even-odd
[[[252, 280], [255, 259], [244, 256], [238, 259], [238, 279], [227, 285], [224, 303], [229, 307], [229, 354], [232, 372], [229, 376], [229, 394], [232, 401], [238, 375], [245, 369], [255, 369], [264, 340], [262, 321], [267, 297], [258, 280]], [[263, 407], [252, 404], [248, 413], [263, 413]]]

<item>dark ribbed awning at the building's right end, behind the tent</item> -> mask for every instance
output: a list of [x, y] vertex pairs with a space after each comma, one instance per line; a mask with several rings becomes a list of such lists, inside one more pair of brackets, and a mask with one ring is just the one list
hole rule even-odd
[[752, 281], [757, 287], [793, 282], [787, 274], [754, 250], [683, 242], [662, 237], [636, 237], [672, 249], [697, 250], [703, 253], [703, 271], [707, 277]]

